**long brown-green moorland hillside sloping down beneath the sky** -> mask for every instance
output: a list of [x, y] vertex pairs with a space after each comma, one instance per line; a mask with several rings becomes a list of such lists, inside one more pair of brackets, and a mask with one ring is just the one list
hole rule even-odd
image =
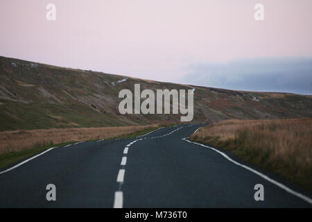
[[121, 115], [121, 89], [195, 89], [194, 122], [312, 117], [312, 96], [161, 83], [0, 57], [0, 130], [178, 122], [180, 114]]

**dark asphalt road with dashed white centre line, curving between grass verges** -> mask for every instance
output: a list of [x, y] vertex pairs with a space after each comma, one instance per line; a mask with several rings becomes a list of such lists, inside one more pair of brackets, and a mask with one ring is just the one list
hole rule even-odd
[[[0, 207], [312, 206], [291, 194], [311, 200], [290, 182], [243, 163], [291, 191], [282, 189], [210, 148], [183, 140], [198, 127], [54, 148], [0, 174]], [[56, 201], [46, 200], [48, 184], [56, 187]], [[263, 201], [254, 200], [256, 184], [264, 187]]]

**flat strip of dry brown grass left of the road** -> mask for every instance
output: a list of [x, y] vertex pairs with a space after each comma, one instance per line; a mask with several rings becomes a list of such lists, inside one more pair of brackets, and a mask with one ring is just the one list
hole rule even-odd
[[121, 126], [104, 128], [65, 128], [49, 130], [16, 130], [0, 132], [0, 153], [23, 151], [29, 148], [38, 148], [50, 144], [60, 144], [71, 141], [89, 139], [107, 139], [130, 135], [139, 130], [155, 127], [148, 126]]

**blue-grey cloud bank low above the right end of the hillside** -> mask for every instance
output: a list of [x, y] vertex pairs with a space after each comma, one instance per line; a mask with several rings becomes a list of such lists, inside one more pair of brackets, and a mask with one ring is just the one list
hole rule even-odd
[[255, 58], [189, 66], [183, 83], [266, 92], [312, 94], [312, 58]]

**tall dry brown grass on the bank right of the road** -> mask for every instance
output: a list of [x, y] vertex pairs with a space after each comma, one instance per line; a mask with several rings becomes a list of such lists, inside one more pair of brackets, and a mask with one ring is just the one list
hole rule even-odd
[[200, 128], [191, 139], [312, 189], [312, 119], [220, 121]]

